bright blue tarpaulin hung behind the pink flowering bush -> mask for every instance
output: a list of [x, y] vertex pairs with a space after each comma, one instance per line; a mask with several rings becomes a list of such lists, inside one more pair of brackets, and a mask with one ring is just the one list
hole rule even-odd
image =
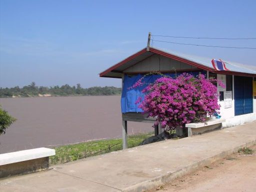
[[[199, 72], [187, 72], [194, 76], [198, 75]], [[202, 74], [206, 75], [205, 71], [201, 71]], [[170, 73], [165, 74], [175, 78], [176, 75], [180, 75], [181, 73]], [[149, 83], [153, 83], [157, 78], [161, 77], [161, 75], [153, 74], [149, 76], [145, 76], [143, 78], [143, 85], [136, 88], [129, 88], [135, 82], [137, 82], [143, 75], [138, 74], [134, 76], [124, 76], [123, 87], [122, 87], [122, 96], [121, 96], [121, 112], [143, 112], [141, 108], [138, 107], [139, 104], [135, 104], [136, 100], [140, 96], [142, 99], [144, 98], [144, 93], [142, 93], [142, 89], [145, 88]]]

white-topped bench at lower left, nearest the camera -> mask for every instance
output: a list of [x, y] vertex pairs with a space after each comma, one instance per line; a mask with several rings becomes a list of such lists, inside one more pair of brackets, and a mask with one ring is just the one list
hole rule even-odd
[[55, 150], [44, 147], [0, 154], [0, 178], [45, 170], [51, 155]]

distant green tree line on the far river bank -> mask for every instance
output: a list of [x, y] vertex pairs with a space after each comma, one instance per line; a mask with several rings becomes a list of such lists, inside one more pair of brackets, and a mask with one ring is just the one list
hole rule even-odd
[[93, 86], [82, 88], [79, 83], [76, 86], [68, 84], [62, 86], [36, 86], [35, 82], [29, 85], [2, 88], [0, 87], [0, 97], [30, 97], [30, 96], [73, 96], [73, 95], [118, 95], [121, 88], [114, 86]]

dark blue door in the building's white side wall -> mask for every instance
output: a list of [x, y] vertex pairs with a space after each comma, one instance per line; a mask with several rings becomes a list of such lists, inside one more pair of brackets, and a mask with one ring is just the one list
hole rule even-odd
[[252, 112], [252, 77], [234, 76], [234, 115]]

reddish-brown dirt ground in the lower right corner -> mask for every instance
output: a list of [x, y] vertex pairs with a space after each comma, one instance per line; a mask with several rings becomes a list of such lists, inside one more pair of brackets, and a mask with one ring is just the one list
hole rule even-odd
[[[256, 145], [249, 147], [256, 153]], [[153, 191], [256, 191], [256, 154], [234, 153], [196, 172], [148, 190]]]

